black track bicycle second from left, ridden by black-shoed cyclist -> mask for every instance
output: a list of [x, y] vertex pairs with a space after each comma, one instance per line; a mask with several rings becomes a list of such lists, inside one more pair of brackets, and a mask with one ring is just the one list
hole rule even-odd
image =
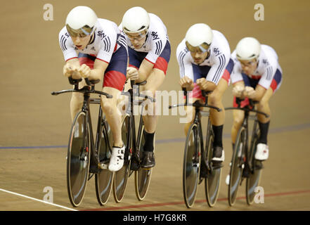
[[[142, 115], [144, 105], [147, 101], [155, 102], [155, 99], [150, 96], [139, 94], [139, 86], [144, 84], [146, 84], [146, 81], [138, 84], [134, 84], [134, 81], [131, 81], [131, 89], [122, 93], [122, 95], [128, 97], [129, 104], [127, 105], [127, 110], [123, 119], [124, 126], [122, 127], [122, 137], [125, 145], [124, 166], [122, 169], [115, 172], [115, 179], [113, 182], [113, 193], [117, 203], [120, 203], [124, 198], [127, 181], [131, 174], [134, 173], [134, 184], [138, 200], [143, 200], [146, 197], [150, 185], [152, 168], [143, 169], [141, 167], [143, 146], [146, 140]], [[134, 86], [137, 88], [134, 89]], [[138, 100], [135, 99], [137, 96], [139, 97]], [[142, 105], [138, 133], [136, 133], [134, 105]]]

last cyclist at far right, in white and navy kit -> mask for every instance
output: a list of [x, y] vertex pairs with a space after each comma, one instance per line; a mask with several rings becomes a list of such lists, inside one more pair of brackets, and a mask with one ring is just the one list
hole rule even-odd
[[[235, 51], [232, 53], [235, 63], [231, 82], [233, 83], [233, 106], [237, 107], [235, 97], [245, 98], [241, 107], [249, 103], [249, 98], [258, 101], [257, 110], [271, 115], [269, 100], [273, 93], [280, 88], [282, 82], [282, 69], [278, 63], [278, 56], [271, 46], [259, 44], [254, 37], [241, 39]], [[233, 110], [233, 127], [231, 129], [231, 141], [233, 147], [238, 130], [243, 122], [244, 112]], [[258, 114], [260, 137], [257, 144], [255, 159], [267, 160], [269, 147], [267, 134], [270, 117]]]

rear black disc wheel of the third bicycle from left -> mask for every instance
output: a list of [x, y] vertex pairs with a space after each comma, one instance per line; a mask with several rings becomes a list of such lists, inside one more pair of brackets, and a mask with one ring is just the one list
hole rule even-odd
[[219, 188], [221, 186], [221, 167], [213, 167], [212, 165], [213, 141], [214, 136], [212, 131], [210, 131], [206, 148], [207, 162], [210, 170], [207, 173], [207, 178], [205, 179], [205, 195], [209, 207], [213, 207], [215, 203], [217, 203], [217, 198], [219, 197]]

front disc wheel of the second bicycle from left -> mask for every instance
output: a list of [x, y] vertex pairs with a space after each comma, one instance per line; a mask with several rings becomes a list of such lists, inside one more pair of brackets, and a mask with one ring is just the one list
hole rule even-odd
[[122, 169], [115, 172], [113, 181], [113, 195], [115, 202], [117, 203], [120, 203], [124, 198], [124, 193], [127, 188], [127, 181], [130, 171], [130, 146], [127, 146], [127, 143], [129, 143], [127, 141], [129, 131], [129, 116], [126, 115], [122, 121], [122, 141], [125, 145], [124, 165]]

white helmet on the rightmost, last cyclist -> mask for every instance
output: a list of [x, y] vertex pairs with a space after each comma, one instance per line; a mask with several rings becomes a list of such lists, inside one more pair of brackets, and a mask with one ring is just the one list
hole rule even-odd
[[238, 60], [258, 58], [261, 53], [261, 44], [254, 37], [245, 37], [238, 42], [235, 52]]

